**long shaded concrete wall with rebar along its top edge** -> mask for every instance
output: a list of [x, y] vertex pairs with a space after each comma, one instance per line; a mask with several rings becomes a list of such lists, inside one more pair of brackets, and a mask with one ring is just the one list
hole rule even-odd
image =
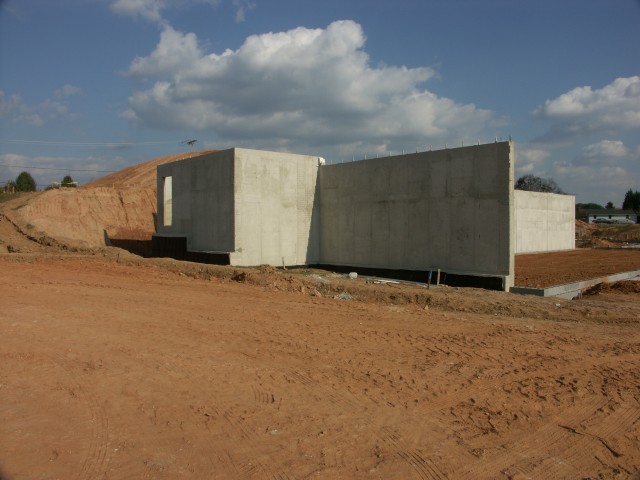
[[320, 261], [513, 282], [509, 142], [320, 170]]

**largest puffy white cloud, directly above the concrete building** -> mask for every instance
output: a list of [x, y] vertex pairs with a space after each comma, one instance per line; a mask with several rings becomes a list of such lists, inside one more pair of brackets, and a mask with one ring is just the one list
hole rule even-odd
[[253, 35], [237, 50], [205, 54], [194, 34], [166, 28], [157, 48], [129, 68], [156, 83], [135, 92], [124, 115], [269, 148], [405, 147], [477, 138], [497, 123], [488, 110], [425, 90], [430, 68], [372, 67], [364, 44], [360, 25], [338, 21]]

